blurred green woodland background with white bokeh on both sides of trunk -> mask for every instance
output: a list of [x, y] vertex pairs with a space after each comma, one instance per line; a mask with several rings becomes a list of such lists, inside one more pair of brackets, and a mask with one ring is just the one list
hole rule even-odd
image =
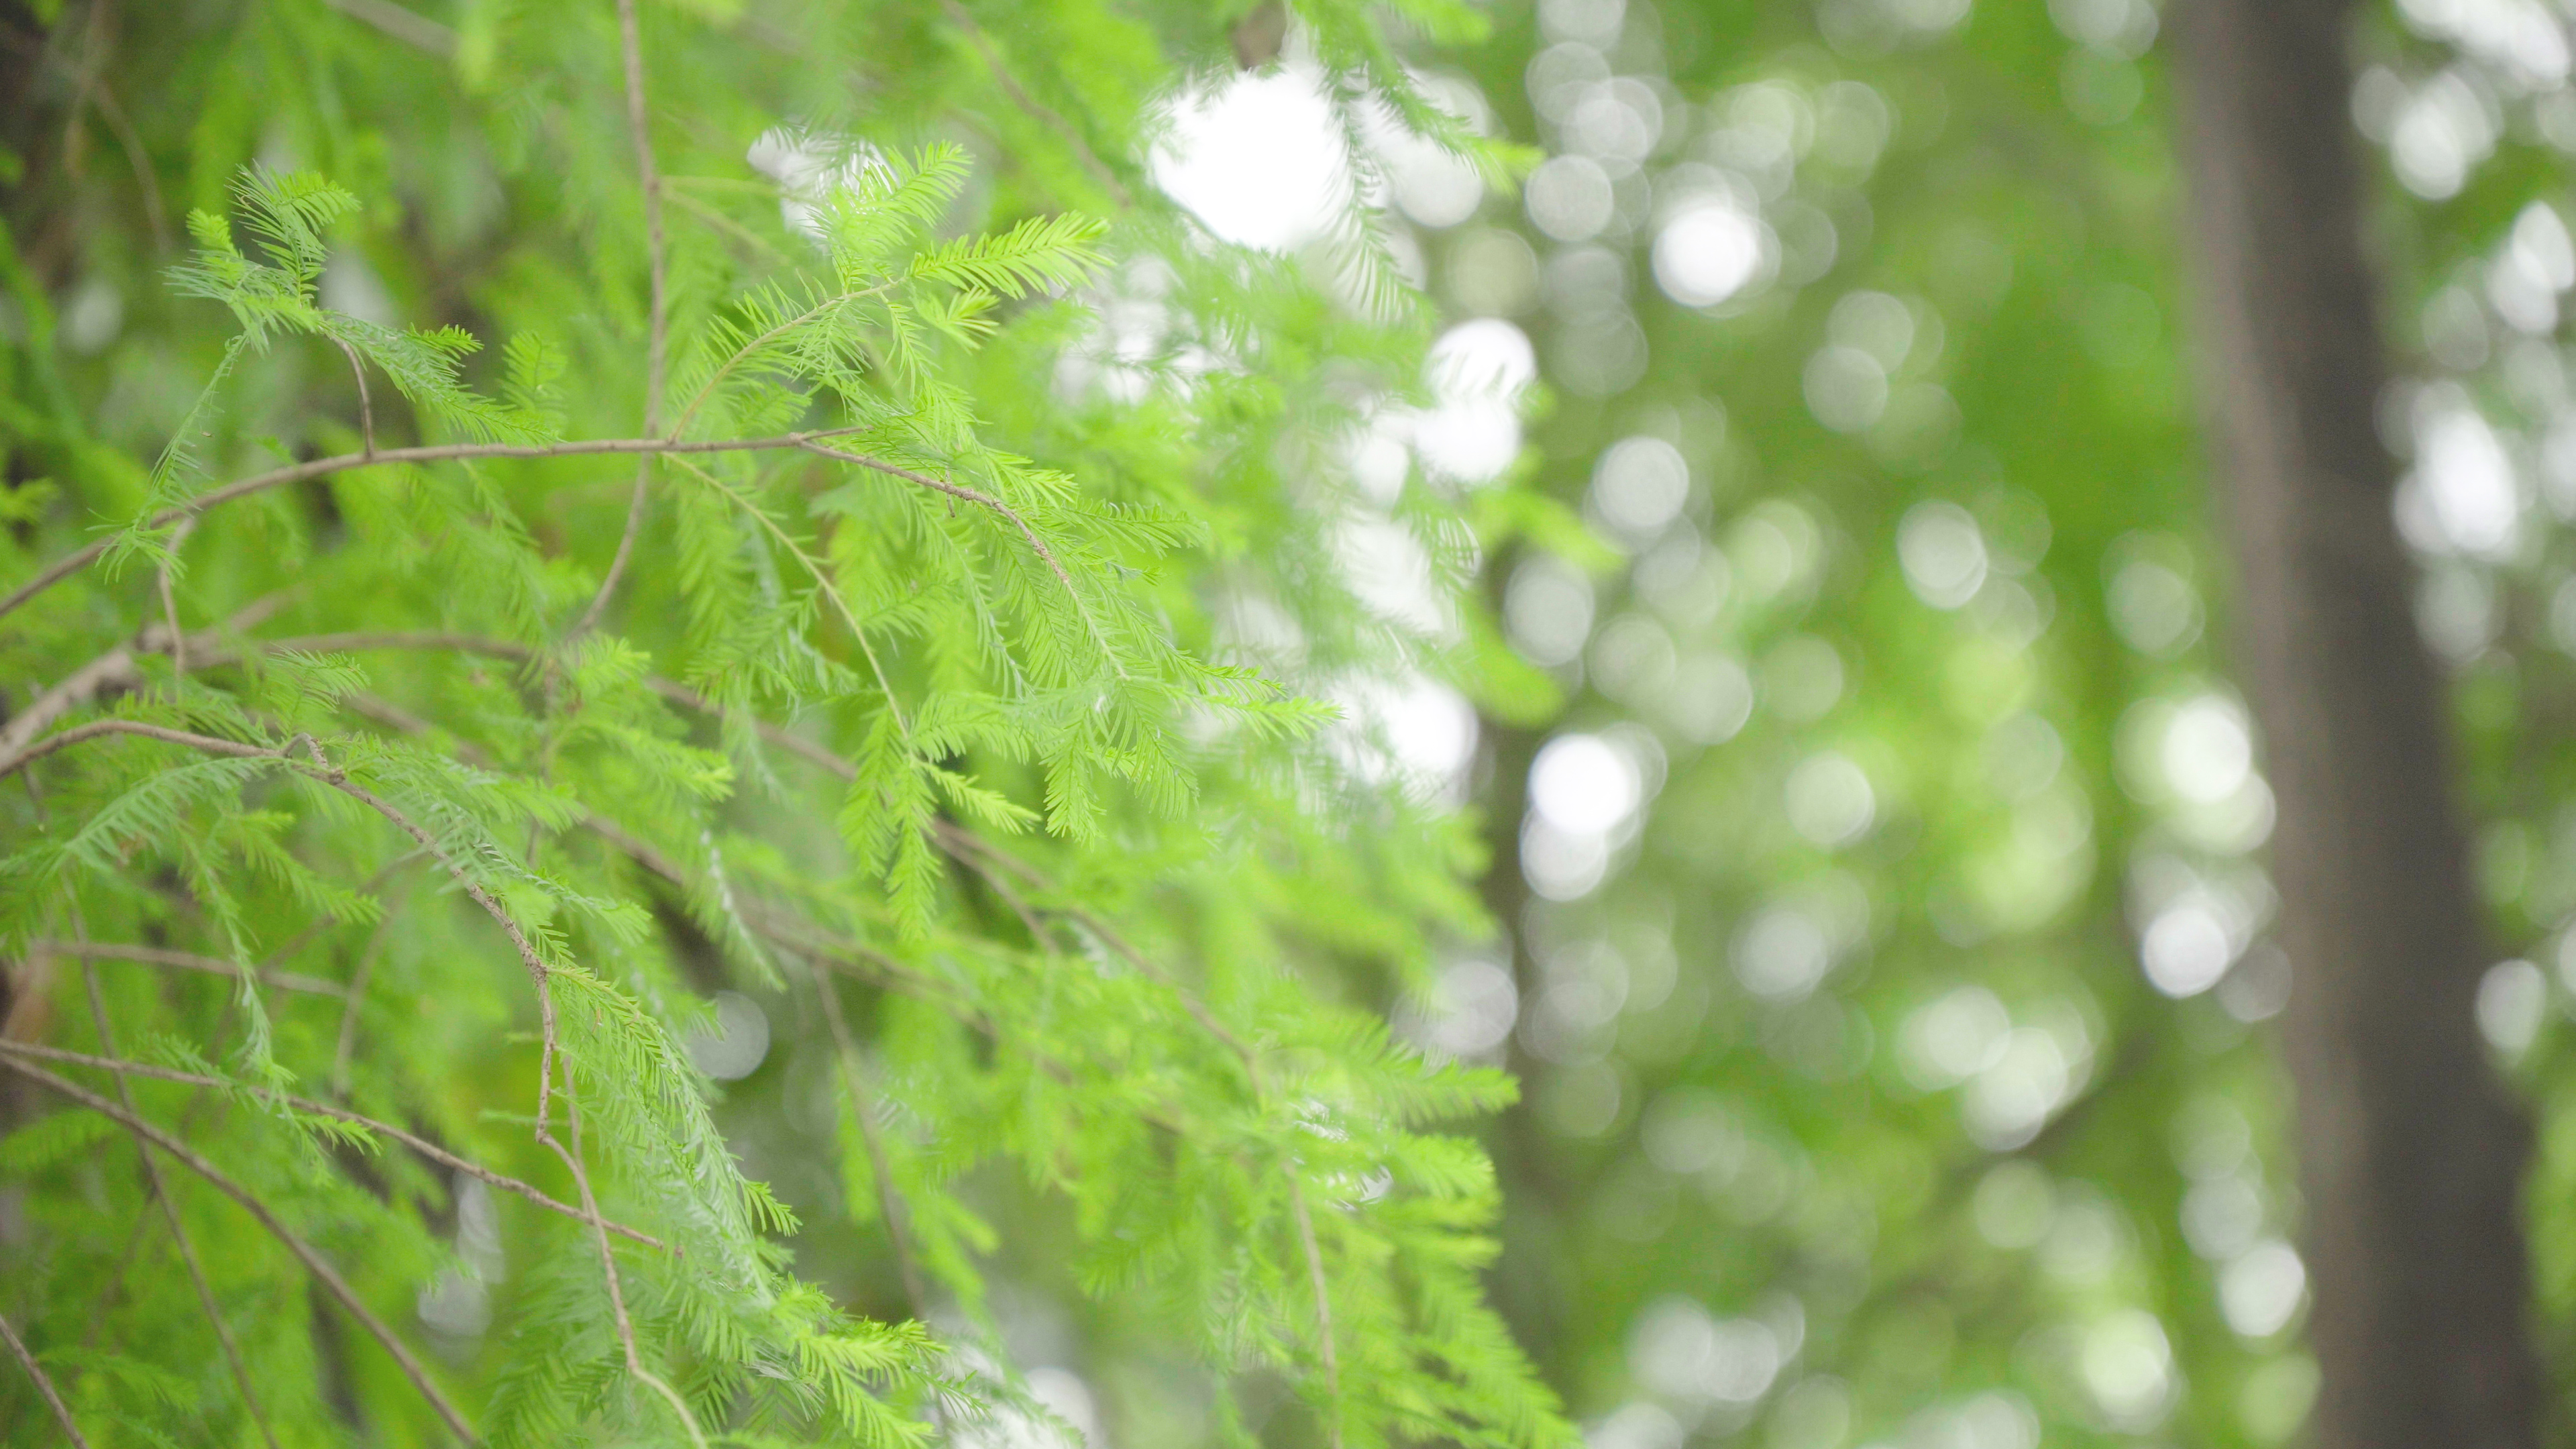
[[[1543, 0], [1450, 59], [1548, 160], [1520, 206], [1417, 224], [1425, 276], [1535, 343], [1543, 487], [1620, 557], [1494, 562], [1571, 704], [1486, 724], [1517, 951], [1453, 964], [1427, 1021], [1528, 1080], [1499, 1289], [1602, 1449], [2303, 1423], [2272, 799], [2159, 21]], [[2566, 23], [2365, 8], [2352, 95], [2561, 1372]]]

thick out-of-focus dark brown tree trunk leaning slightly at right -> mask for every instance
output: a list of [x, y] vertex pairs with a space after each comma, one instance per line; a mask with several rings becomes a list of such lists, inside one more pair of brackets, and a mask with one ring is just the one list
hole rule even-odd
[[2202, 387], [2280, 822], [2318, 1449], [2535, 1441], [2530, 1132], [2473, 1021], [2481, 913], [2409, 606], [2347, 124], [2352, 0], [2184, 0]]

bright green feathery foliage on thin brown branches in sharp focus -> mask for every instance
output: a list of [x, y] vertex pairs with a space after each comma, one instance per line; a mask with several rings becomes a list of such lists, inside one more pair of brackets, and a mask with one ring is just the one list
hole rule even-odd
[[[1417, 389], [1427, 307], [1126, 160], [1213, 36], [644, 5], [647, 219], [613, 0], [219, 10], [103, 62], [142, 170], [0, 232], [0, 446], [54, 480], [0, 570], [95, 539], [0, 608], [0, 1315], [90, 1441], [1074, 1434], [1038, 1369], [1136, 1441], [1569, 1441], [1450, 1134], [1510, 1083], [1365, 1006], [1484, 928], [1471, 822], [1319, 704], [1437, 645], [1298, 462]], [[1383, 15], [1301, 15], [1345, 106], [1455, 131]], [[997, 70], [1051, 28], [1092, 70]], [[1084, 382], [1139, 271], [1175, 343]], [[1409, 526], [1466, 557], [1479, 508]], [[1311, 665], [1244, 655], [1249, 596]]]

